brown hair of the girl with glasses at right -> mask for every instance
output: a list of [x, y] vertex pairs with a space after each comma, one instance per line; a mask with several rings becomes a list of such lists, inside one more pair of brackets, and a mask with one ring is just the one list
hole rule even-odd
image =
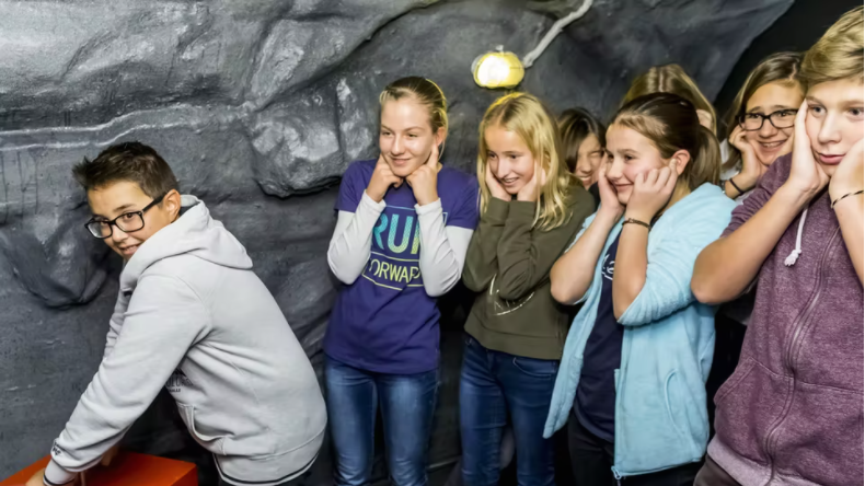
[[[728, 139], [733, 135], [733, 130], [739, 124], [739, 117], [745, 115], [748, 101], [757, 90], [773, 82], [781, 82], [788, 86], [800, 85], [797, 78], [800, 63], [801, 54], [799, 53], [777, 53], [761, 60], [753, 71], [748, 74], [748, 79], [745, 80], [745, 84], [733, 101], [729, 112], [727, 112], [727, 136], [725, 138]], [[738, 166], [742, 160], [741, 152], [733, 143], [729, 144], [729, 150], [730, 154], [720, 167], [722, 172]]]

